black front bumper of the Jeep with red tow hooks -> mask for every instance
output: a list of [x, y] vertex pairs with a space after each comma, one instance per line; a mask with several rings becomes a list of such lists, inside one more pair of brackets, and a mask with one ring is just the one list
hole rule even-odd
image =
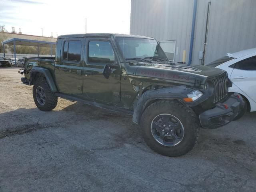
[[226, 101], [216, 104], [216, 107], [199, 115], [201, 126], [214, 129], [231, 122], [244, 108], [244, 100], [238, 93], [234, 93]]

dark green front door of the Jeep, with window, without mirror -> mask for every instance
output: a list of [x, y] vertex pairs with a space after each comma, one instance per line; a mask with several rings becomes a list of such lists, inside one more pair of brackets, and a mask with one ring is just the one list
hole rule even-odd
[[[106, 64], [112, 65], [109, 78], [102, 74]], [[84, 96], [100, 102], [120, 102], [121, 67], [111, 39], [87, 38], [84, 51]]]

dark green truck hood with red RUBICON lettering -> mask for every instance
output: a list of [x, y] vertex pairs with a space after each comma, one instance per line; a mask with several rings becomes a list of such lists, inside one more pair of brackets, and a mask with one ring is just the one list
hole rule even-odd
[[185, 83], [194, 86], [204, 84], [207, 78], [223, 74], [225, 71], [209, 66], [182, 66], [169, 62], [139, 62], [132, 65], [138, 66], [135, 75], [146, 78], [159, 78], [174, 83]]

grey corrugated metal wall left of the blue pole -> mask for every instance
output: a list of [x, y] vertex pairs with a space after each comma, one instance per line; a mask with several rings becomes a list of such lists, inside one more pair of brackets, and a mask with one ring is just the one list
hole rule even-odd
[[132, 0], [130, 34], [176, 40], [175, 61], [182, 61], [183, 50], [188, 60], [192, 14], [192, 0]]

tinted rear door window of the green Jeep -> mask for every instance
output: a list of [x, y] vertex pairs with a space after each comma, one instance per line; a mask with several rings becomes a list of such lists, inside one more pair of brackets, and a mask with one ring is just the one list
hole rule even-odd
[[65, 41], [63, 48], [63, 60], [80, 61], [81, 60], [81, 41]]

